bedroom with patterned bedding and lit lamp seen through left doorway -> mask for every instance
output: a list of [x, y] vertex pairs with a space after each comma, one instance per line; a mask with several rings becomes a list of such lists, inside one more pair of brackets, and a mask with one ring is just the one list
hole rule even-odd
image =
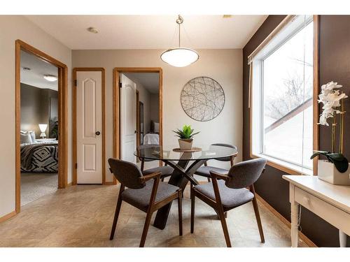
[[21, 206], [58, 188], [58, 69], [21, 51]]

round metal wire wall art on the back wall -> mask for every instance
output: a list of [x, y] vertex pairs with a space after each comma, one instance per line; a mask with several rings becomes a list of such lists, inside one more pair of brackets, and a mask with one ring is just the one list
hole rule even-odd
[[221, 113], [225, 105], [223, 87], [213, 78], [193, 78], [182, 89], [181, 105], [192, 119], [210, 121]]

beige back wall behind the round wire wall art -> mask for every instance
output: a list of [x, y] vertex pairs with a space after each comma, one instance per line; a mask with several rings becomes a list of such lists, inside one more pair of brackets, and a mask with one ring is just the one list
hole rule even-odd
[[[200, 60], [185, 68], [175, 68], [160, 60], [163, 50], [73, 50], [72, 64], [104, 67], [106, 70], [106, 157], [113, 156], [113, 68], [162, 67], [163, 69], [163, 133], [164, 145], [176, 146], [172, 130], [191, 124], [201, 131], [195, 136], [195, 145], [231, 143], [241, 152], [242, 143], [242, 50], [198, 50]], [[218, 117], [209, 122], [197, 122], [183, 112], [180, 94], [188, 80], [209, 76], [218, 81], [225, 91], [225, 107]], [[238, 160], [241, 160], [239, 154]], [[228, 165], [228, 163], [225, 163]], [[106, 165], [108, 168], [108, 165]], [[112, 181], [106, 170], [106, 181]]]

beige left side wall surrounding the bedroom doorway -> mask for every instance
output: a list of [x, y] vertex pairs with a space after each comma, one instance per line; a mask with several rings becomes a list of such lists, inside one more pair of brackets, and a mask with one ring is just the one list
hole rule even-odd
[[[69, 68], [71, 105], [71, 50], [27, 18], [0, 15], [0, 217], [15, 210], [15, 41], [20, 39], [55, 57]], [[69, 166], [71, 182], [71, 106], [69, 106]]]

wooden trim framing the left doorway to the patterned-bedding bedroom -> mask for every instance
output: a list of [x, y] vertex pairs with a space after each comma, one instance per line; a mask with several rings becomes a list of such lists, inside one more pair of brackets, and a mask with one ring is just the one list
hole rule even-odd
[[34, 54], [58, 69], [58, 188], [68, 180], [68, 68], [45, 52], [21, 41], [15, 41], [15, 212], [20, 212], [20, 52]]

